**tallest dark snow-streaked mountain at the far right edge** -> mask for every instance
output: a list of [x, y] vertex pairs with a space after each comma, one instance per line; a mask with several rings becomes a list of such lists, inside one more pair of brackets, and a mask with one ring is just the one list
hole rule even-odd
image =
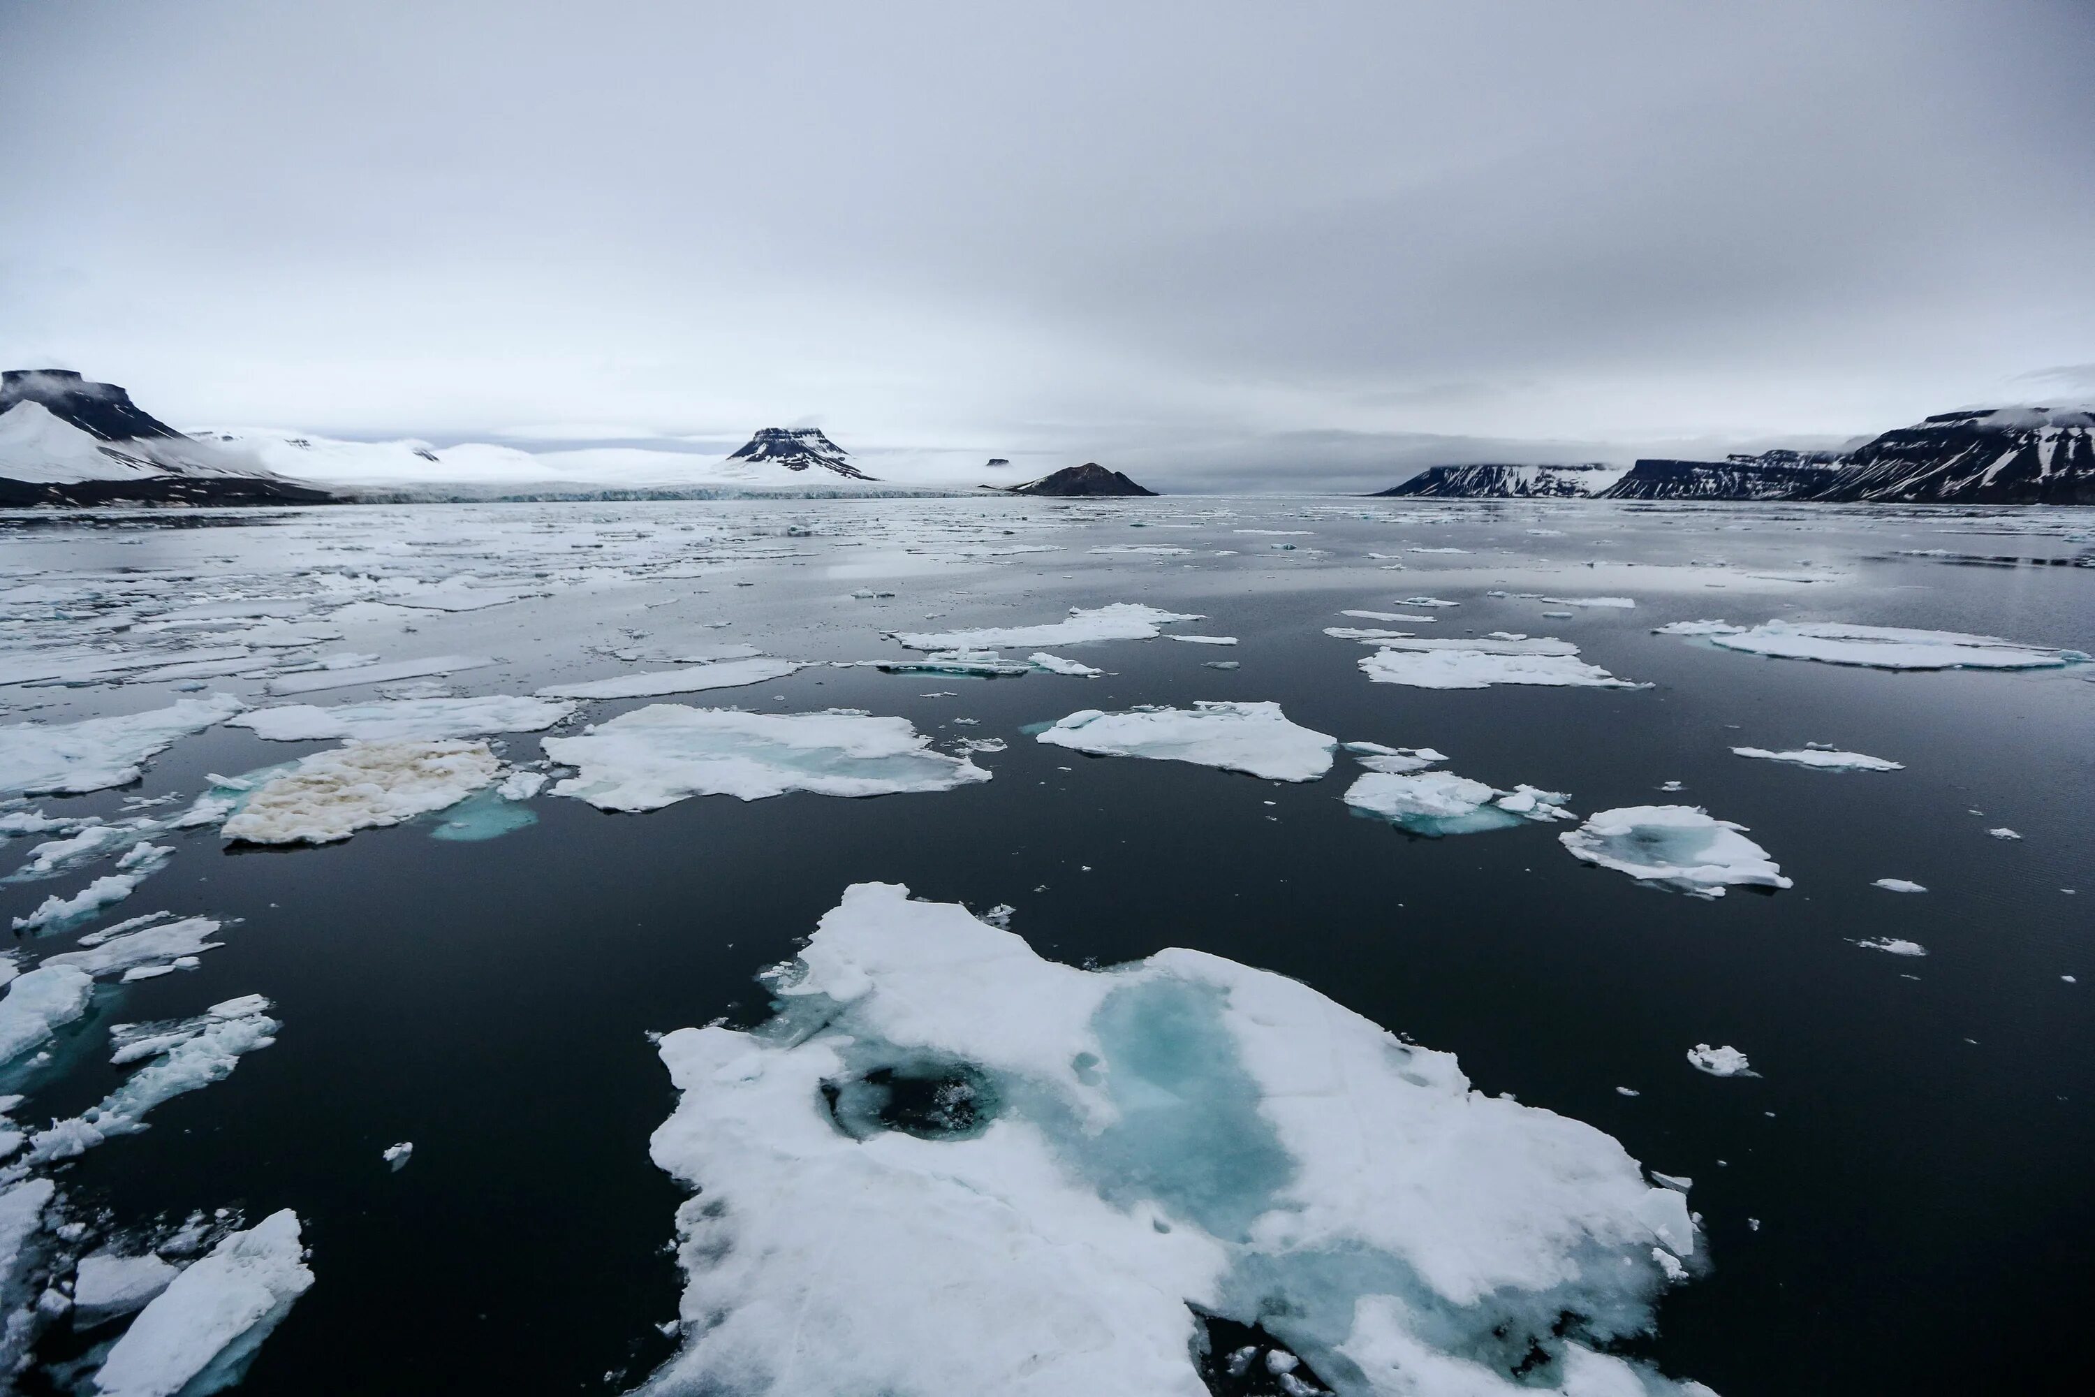
[[2095, 404], [1938, 413], [1848, 452], [1810, 498], [2095, 505]]

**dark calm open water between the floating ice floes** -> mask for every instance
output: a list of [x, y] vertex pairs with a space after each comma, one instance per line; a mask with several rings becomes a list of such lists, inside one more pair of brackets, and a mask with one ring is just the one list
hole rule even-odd
[[[876, 656], [886, 653], [880, 626], [1016, 624], [1098, 601], [1207, 612], [1196, 630], [1242, 643], [1060, 651], [1115, 670], [1098, 681], [823, 668], [683, 700], [859, 706], [905, 714], [941, 741], [1010, 741], [976, 758], [993, 781], [949, 794], [702, 798], [626, 817], [541, 798], [536, 825], [482, 844], [432, 840], [427, 823], [297, 852], [222, 852], [210, 831], [184, 836], [172, 867], [109, 917], [161, 907], [241, 917], [226, 949], [195, 974], [105, 986], [94, 1020], [71, 1035], [78, 1066], [17, 1114], [73, 1114], [119, 1079], [96, 1024], [266, 993], [285, 1024], [277, 1045], [161, 1106], [147, 1133], [61, 1171], [73, 1211], [105, 1208], [122, 1229], [197, 1206], [297, 1208], [318, 1282], [264, 1345], [241, 1389], [256, 1397], [618, 1391], [668, 1355], [672, 1340], [654, 1326], [675, 1315], [679, 1294], [666, 1242], [681, 1194], [647, 1160], [672, 1095], [647, 1035], [763, 1018], [758, 968], [790, 957], [846, 884], [903, 882], [976, 909], [1012, 903], [1012, 928], [1066, 961], [1198, 947], [1297, 976], [1458, 1054], [1481, 1089], [1588, 1121], [1649, 1167], [1691, 1175], [1714, 1269], [1659, 1311], [1649, 1353], [1670, 1374], [1730, 1397], [2078, 1387], [2078, 1326], [2095, 1299], [2085, 1261], [2095, 1242], [2095, 685], [2070, 672], [1754, 660], [1649, 630], [1785, 614], [2095, 651], [2095, 572], [1871, 561], [1894, 547], [2032, 545], [1919, 528], [1894, 540], [1890, 526], [1827, 515], [1806, 517], [1781, 547], [1754, 545], [1852, 570], [1808, 597], [1567, 576], [1554, 584], [1567, 595], [1624, 591], [1638, 607], [1550, 622], [1538, 620], [1540, 603], [1481, 595], [1529, 589], [1500, 580], [1481, 555], [1490, 540], [1580, 559], [1607, 538], [1613, 557], [1670, 561], [1718, 547], [1714, 534], [1689, 545], [1682, 528], [1707, 534], [1739, 517], [1751, 519], [1575, 509], [1450, 526], [1244, 517], [1236, 524], [1311, 528], [1301, 542], [1332, 557], [1261, 559], [1251, 549], [1267, 540], [1232, 545], [1223, 528], [1198, 538], [1244, 549], [1242, 561], [1200, 570], [1083, 555], [1100, 540], [1192, 538], [1091, 526], [1054, 538], [1064, 553], [987, 582], [874, 582], [901, 593], [878, 616], [834, 601], [857, 582], [794, 574], [779, 582], [804, 593], [804, 609], [777, 620], [798, 637], [798, 647], [775, 645], [788, 656]], [[1573, 538], [1523, 540], [1538, 519]], [[1479, 555], [1420, 555], [1406, 572], [1360, 559], [1399, 540]], [[1749, 542], [1720, 547], [1743, 557]], [[2045, 540], [2045, 551], [2059, 547]], [[1429, 570], [1441, 563], [1450, 570]], [[708, 586], [706, 605], [758, 607], [719, 580], [683, 586]], [[939, 622], [918, 622], [926, 589], [947, 614]], [[1397, 599], [1414, 593], [1464, 603], [1437, 624], [1443, 635], [1563, 635], [1588, 660], [1657, 687], [1370, 685], [1353, 668], [1364, 651], [1318, 633], [1349, 624], [1339, 607], [1402, 612]], [[446, 624], [501, 633], [524, 653], [532, 628], [555, 620], [522, 603]], [[714, 635], [765, 643], [767, 624], [752, 612]], [[398, 653], [446, 647], [413, 639], [432, 643]], [[1203, 666], [1215, 658], [1242, 668]], [[461, 691], [528, 691], [517, 687], [528, 681], [459, 679]], [[941, 689], [955, 697], [924, 697]], [[329, 697], [362, 693], [316, 702]], [[1701, 903], [1575, 863], [1542, 825], [1408, 838], [1339, 802], [1353, 775], [1343, 756], [1322, 781], [1276, 785], [1083, 758], [1020, 733], [1077, 708], [1200, 697], [1278, 700], [1295, 723], [1341, 739], [1433, 746], [1456, 773], [1571, 792], [1582, 813], [1705, 804], [1751, 827], [1795, 888]], [[593, 716], [633, 706], [599, 704]], [[941, 727], [955, 716], [980, 725]], [[1726, 750], [1804, 741], [1906, 771], [1827, 775]], [[197, 792], [205, 771], [321, 746], [220, 729], [178, 744], [126, 794]], [[536, 739], [509, 748], [532, 756]], [[1661, 794], [1668, 779], [1684, 792]], [[117, 792], [42, 806], [113, 811]], [[2024, 840], [1986, 838], [1994, 825]], [[1929, 892], [1871, 886], [1888, 875]], [[0, 886], [0, 913], [21, 915], [75, 882]], [[1865, 936], [1919, 940], [1929, 955], [1865, 951], [1854, 945]], [[1684, 1062], [1695, 1043], [1733, 1043], [1762, 1077], [1699, 1074]], [[398, 1139], [413, 1139], [415, 1156], [390, 1173], [379, 1150]], [[65, 1351], [46, 1343], [46, 1357]]]

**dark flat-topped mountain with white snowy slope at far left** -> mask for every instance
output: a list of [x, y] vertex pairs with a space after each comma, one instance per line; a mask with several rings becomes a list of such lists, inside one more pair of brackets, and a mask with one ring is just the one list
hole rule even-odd
[[0, 373], [0, 507], [331, 501], [251, 454], [176, 431], [115, 383], [71, 369]]

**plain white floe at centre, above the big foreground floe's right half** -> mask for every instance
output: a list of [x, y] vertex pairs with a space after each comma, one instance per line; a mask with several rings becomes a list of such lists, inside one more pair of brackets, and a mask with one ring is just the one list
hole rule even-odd
[[1270, 781], [1316, 781], [1330, 771], [1339, 746], [1328, 733], [1288, 723], [1280, 704], [1211, 704], [1192, 708], [1085, 708], [1035, 733], [1035, 741], [1091, 756], [1150, 756], [1196, 767], [1242, 771]]

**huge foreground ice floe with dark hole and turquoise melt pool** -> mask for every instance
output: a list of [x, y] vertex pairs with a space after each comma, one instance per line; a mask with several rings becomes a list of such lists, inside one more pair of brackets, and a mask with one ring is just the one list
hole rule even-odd
[[1221, 1322], [1291, 1393], [1707, 1393], [1605, 1351], [1686, 1276], [1686, 1198], [1305, 984], [1058, 966], [895, 884], [769, 984], [660, 1041], [696, 1194], [647, 1393], [1207, 1397]]

